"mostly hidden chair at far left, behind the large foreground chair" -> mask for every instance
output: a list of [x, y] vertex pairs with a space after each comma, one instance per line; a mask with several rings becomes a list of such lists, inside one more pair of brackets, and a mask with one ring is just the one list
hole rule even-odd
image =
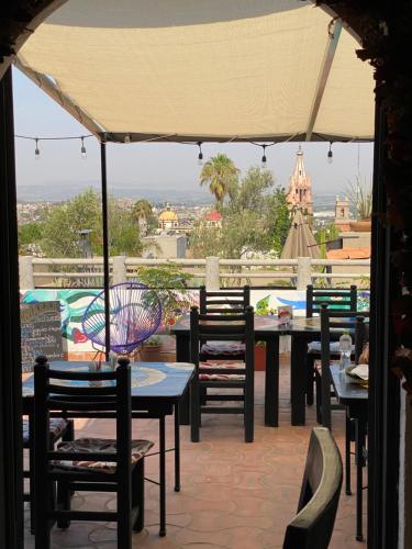
[[[29, 492], [24, 492], [23, 501], [30, 502], [30, 530], [34, 534], [34, 426], [29, 419], [23, 419], [23, 448], [29, 450], [29, 469], [23, 471], [23, 478], [29, 479]], [[49, 444], [53, 448], [59, 440], [68, 441], [75, 437], [75, 425], [73, 419], [63, 417], [51, 418]]]

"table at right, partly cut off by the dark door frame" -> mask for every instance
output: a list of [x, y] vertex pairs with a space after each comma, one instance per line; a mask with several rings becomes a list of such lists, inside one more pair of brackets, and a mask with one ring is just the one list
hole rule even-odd
[[368, 390], [350, 382], [336, 363], [331, 365], [332, 383], [339, 404], [345, 406], [350, 419], [355, 421], [355, 462], [356, 462], [356, 539], [364, 539], [363, 533], [363, 490], [368, 421]]

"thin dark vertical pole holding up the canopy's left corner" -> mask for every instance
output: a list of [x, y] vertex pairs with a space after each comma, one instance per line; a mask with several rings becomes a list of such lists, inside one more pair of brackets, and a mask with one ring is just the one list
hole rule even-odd
[[110, 270], [109, 270], [109, 223], [108, 223], [108, 170], [105, 158], [105, 142], [100, 143], [101, 163], [101, 219], [103, 226], [103, 289], [104, 289], [104, 334], [105, 360], [110, 352]]

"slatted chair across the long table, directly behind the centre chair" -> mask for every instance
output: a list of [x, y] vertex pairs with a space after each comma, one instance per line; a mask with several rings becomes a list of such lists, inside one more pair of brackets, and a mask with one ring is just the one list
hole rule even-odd
[[[225, 314], [231, 309], [231, 314], [243, 314], [250, 304], [250, 288], [244, 285], [242, 290], [207, 291], [200, 287], [199, 309], [200, 314]], [[245, 346], [236, 341], [205, 341], [203, 355], [209, 355], [214, 360], [235, 360], [245, 351]]]

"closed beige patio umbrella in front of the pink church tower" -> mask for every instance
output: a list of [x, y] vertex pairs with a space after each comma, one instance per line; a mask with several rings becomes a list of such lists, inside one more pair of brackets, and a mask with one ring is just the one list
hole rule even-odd
[[319, 244], [300, 210], [294, 212], [280, 259], [297, 259], [298, 257], [311, 257], [312, 259], [321, 257]]

